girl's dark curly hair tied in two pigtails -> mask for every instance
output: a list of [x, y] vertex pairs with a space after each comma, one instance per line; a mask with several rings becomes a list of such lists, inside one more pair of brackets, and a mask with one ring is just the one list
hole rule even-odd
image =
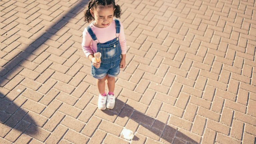
[[114, 17], [121, 18], [121, 8], [119, 5], [115, 4], [115, 0], [90, 0], [88, 4], [88, 9], [84, 12], [84, 21], [90, 23], [91, 20], [95, 20], [92, 14], [90, 13], [90, 9], [95, 9], [98, 6], [107, 6], [113, 5], [115, 8]]

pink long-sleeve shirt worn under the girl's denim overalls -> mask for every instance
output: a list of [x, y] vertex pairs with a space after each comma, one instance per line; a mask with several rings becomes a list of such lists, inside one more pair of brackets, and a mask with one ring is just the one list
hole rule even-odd
[[[124, 35], [124, 27], [123, 24], [120, 22], [120, 35], [119, 35], [119, 42], [122, 50], [122, 54], [126, 54], [126, 39]], [[112, 23], [105, 27], [105, 28], [98, 28], [91, 23], [89, 25], [96, 35], [97, 39], [100, 43], [105, 43], [107, 41], [113, 40], [116, 38], [116, 23], [113, 19]], [[97, 40], [94, 41], [90, 36], [89, 32], [85, 28], [83, 31], [83, 41], [82, 41], [82, 49], [85, 55], [88, 57], [90, 54], [94, 54], [97, 52]]]

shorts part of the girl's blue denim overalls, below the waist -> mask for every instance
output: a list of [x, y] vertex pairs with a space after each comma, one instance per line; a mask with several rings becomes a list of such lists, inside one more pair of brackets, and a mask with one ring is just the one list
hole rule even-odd
[[120, 61], [121, 61], [121, 58], [111, 63], [101, 63], [100, 68], [98, 69], [95, 68], [91, 62], [91, 67], [92, 67], [91, 74], [96, 79], [102, 79], [107, 74], [110, 77], [116, 77], [120, 72]]

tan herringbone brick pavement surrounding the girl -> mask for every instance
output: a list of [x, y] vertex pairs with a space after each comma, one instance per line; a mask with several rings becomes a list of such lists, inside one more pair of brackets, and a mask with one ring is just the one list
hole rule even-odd
[[116, 1], [129, 49], [104, 111], [81, 49], [88, 1], [0, 1], [0, 143], [254, 144], [256, 2]]

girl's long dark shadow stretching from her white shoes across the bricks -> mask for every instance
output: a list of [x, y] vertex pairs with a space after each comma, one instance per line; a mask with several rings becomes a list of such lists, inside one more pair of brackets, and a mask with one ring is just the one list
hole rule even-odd
[[[153, 133], [153, 139], [159, 140], [160, 138], [162, 139], [161, 141], [164, 143], [174, 143], [174, 138], [178, 137], [181, 140], [184, 140], [188, 143], [193, 143], [193, 144], [198, 144], [200, 140], [193, 140], [186, 134], [180, 132], [179, 130], [169, 126], [166, 123], [163, 123], [157, 119], [154, 119], [150, 116], [147, 116], [141, 112], [138, 112], [136, 109], [131, 107], [130, 105], [125, 104], [119, 99], [116, 99], [116, 104], [114, 109], [112, 110], [103, 110], [107, 115], [113, 116], [117, 115], [118, 117], [125, 118], [128, 117], [128, 119], [132, 119], [133, 121], [137, 122], [139, 124], [138, 128], [137, 127], [137, 133], [144, 133], [146, 130], [149, 130], [150, 132]], [[127, 120], [128, 121], [128, 120]], [[147, 133], [147, 132], [145, 132]], [[147, 134], [145, 134], [147, 135]], [[149, 134], [150, 135], [150, 134]], [[152, 135], [152, 134], [151, 134]], [[138, 141], [139, 138], [134, 136], [132, 139], [133, 141]], [[176, 139], [177, 140], [177, 139]], [[179, 140], [177, 140], [179, 141]]]

